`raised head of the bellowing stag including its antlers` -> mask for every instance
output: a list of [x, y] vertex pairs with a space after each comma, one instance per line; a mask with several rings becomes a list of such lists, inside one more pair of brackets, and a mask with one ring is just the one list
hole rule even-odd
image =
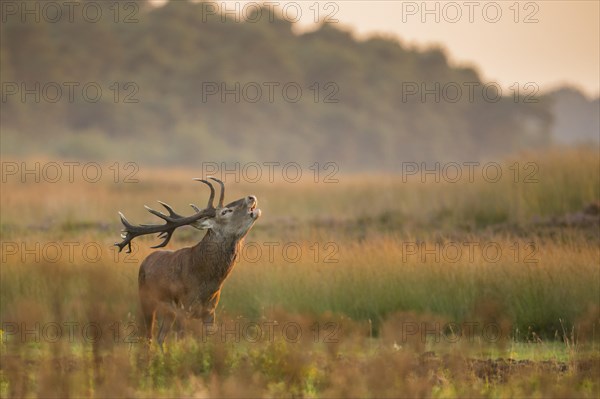
[[163, 238], [163, 241], [153, 246], [152, 248], [161, 248], [166, 246], [171, 240], [173, 232], [178, 227], [182, 226], [193, 226], [199, 230], [211, 230], [218, 236], [231, 237], [232, 239], [239, 239], [246, 235], [250, 230], [256, 219], [261, 215], [260, 209], [256, 209], [257, 200], [253, 195], [240, 198], [239, 200], [233, 201], [227, 205], [223, 205], [225, 198], [225, 185], [219, 179], [211, 177], [210, 179], [216, 181], [221, 186], [221, 194], [219, 196], [219, 204], [215, 208], [213, 201], [215, 198], [215, 189], [210, 182], [204, 179], [194, 179], [202, 182], [210, 188], [210, 197], [206, 208], [200, 209], [196, 205], [190, 204], [190, 206], [196, 211], [193, 215], [182, 216], [176, 213], [171, 206], [164, 202], [158, 201], [169, 213], [165, 215], [159, 211], [149, 208], [146, 206], [148, 212], [155, 216], [163, 219], [164, 224], [153, 225], [153, 224], [141, 224], [133, 225], [125, 218], [121, 212], [121, 222], [125, 227], [121, 237], [123, 241], [115, 243], [119, 247], [119, 252], [126, 246], [127, 251], [131, 252], [131, 241], [138, 236], [146, 234], [158, 233], [159, 238]]

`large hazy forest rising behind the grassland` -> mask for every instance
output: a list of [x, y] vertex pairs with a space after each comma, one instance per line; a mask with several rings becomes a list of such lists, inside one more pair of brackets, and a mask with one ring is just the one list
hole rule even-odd
[[4, 154], [397, 170], [552, 141], [535, 87], [503, 90], [440, 48], [334, 23], [297, 34], [279, 17], [224, 21], [204, 3], [127, 4], [116, 20], [114, 3], [94, 3], [106, 18], [93, 23], [3, 9]]

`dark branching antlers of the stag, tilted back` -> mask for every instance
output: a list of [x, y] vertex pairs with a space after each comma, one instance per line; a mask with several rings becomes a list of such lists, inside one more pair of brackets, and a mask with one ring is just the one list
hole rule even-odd
[[[223, 207], [223, 198], [225, 197], [225, 185], [219, 179], [216, 179], [214, 177], [211, 177], [211, 179], [216, 181], [217, 183], [219, 183], [219, 185], [221, 186], [221, 196], [219, 199], [219, 208], [222, 208]], [[165, 245], [167, 245], [169, 243], [169, 241], [171, 240], [171, 236], [173, 235], [173, 232], [178, 227], [190, 225], [200, 219], [214, 217], [216, 214], [216, 208], [213, 205], [213, 200], [215, 198], [215, 188], [212, 186], [212, 184], [210, 184], [208, 181], [206, 181], [204, 179], [194, 179], [194, 180], [200, 181], [200, 182], [208, 185], [208, 187], [210, 187], [210, 197], [208, 199], [208, 204], [206, 205], [205, 209], [201, 210], [196, 205], [190, 204], [190, 206], [196, 211], [196, 213], [193, 215], [190, 215], [190, 216], [179, 215], [169, 205], [165, 204], [164, 202], [158, 201], [158, 203], [161, 204], [163, 207], [165, 207], [165, 209], [169, 212], [168, 216], [159, 211], [155, 211], [154, 209], [149, 208], [148, 206], [144, 206], [144, 207], [148, 210], [148, 212], [163, 219], [166, 223], [158, 224], [158, 225], [157, 224], [141, 224], [139, 226], [136, 226], [136, 225], [129, 223], [129, 221], [125, 218], [125, 215], [123, 215], [121, 212], [119, 212], [119, 216], [121, 217], [121, 222], [123, 223], [123, 226], [125, 226], [125, 228], [123, 229], [123, 234], [121, 234], [121, 238], [123, 238], [123, 241], [115, 243], [115, 245], [117, 247], [119, 247], [119, 252], [121, 252], [123, 250], [123, 248], [125, 248], [127, 246], [126, 252], [131, 253], [131, 240], [133, 240], [135, 237], [138, 237], [138, 236], [142, 236], [142, 235], [146, 235], [146, 234], [153, 234], [153, 233], [160, 233], [158, 235], [158, 238], [164, 238], [164, 240], [160, 244], [155, 245], [152, 248], [164, 247]]]

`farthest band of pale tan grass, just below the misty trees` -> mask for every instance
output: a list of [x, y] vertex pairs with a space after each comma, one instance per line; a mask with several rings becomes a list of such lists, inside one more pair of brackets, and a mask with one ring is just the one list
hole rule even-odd
[[[474, 167], [472, 181], [468, 167], [461, 165], [462, 178], [456, 183], [450, 182], [450, 172], [440, 173], [439, 183], [431, 175], [424, 176], [423, 183], [418, 173], [351, 176], [344, 175], [342, 167], [335, 176], [337, 183], [323, 183], [323, 179], [315, 183], [306, 173], [298, 183], [288, 183], [280, 174], [274, 175], [272, 183], [266, 175], [257, 183], [238, 176], [239, 183], [228, 182], [227, 197], [255, 193], [264, 210], [257, 229], [270, 228], [277, 233], [281, 233], [281, 226], [298, 227], [315, 221], [359, 222], [356, 228], [363, 229], [371, 225], [381, 228], [382, 224], [395, 230], [473, 229], [502, 222], [528, 223], [535, 216], [563, 215], [600, 200], [600, 160], [590, 149], [521, 154], [500, 164], [502, 177], [496, 182], [493, 168], [487, 180], [483, 177], [485, 165], [490, 163]], [[66, 172], [57, 183], [44, 179], [35, 183], [29, 175], [23, 184], [20, 175], [9, 176], [0, 199], [2, 228], [43, 226], [61, 230], [65, 224], [92, 222], [114, 229], [119, 226], [115, 217], [118, 210], [134, 220], [152, 221], [143, 204], [152, 206], [158, 199], [177, 209], [189, 209], [190, 202], [203, 204], [207, 198], [206, 187], [191, 180], [200, 170], [140, 166], [133, 176], [138, 182], [123, 183], [121, 172], [116, 184], [110, 166], [103, 165], [103, 178], [98, 183], [88, 183], [79, 175], [69, 183]]]

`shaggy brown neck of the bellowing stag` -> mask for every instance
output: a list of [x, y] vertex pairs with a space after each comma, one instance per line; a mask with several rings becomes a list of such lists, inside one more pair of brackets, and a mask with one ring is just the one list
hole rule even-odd
[[222, 283], [233, 269], [242, 240], [208, 230], [202, 241], [192, 248], [194, 268], [213, 281]]

